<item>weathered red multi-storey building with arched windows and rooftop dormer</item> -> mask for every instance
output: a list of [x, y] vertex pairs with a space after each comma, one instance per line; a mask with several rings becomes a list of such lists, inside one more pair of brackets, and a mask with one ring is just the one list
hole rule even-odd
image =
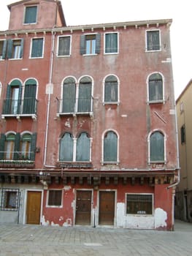
[[66, 26], [60, 1], [8, 7], [0, 221], [172, 230], [172, 20]]

